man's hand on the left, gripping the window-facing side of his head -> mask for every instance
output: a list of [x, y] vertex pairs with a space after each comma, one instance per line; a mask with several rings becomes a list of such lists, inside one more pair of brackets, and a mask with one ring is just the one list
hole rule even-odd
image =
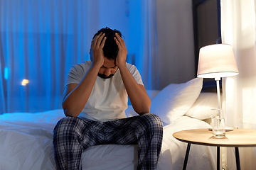
[[92, 59], [93, 65], [102, 67], [104, 64], [103, 47], [105, 45], [106, 39], [107, 37], [105, 37], [105, 33], [100, 33], [99, 35], [95, 36], [95, 38], [93, 38], [90, 48], [90, 57]]

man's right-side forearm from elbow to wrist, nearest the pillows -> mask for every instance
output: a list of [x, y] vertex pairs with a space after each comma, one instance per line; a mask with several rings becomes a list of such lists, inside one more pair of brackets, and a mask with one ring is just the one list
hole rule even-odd
[[134, 77], [132, 77], [132, 74], [129, 72], [126, 65], [119, 67], [119, 70], [121, 72], [122, 81], [124, 82], [125, 89], [127, 90], [127, 94], [132, 103], [134, 111], [136, 111], [139, 115], [149, 113], [151, 100], [146, 94], [144, 86], [137, 84], [137, 81], [135, 81]]

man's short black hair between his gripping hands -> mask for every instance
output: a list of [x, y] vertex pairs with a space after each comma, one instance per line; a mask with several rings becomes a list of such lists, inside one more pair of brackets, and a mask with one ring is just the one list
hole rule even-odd
[[122, 37], [122, 33], [119, 30], [112, 30], [106, 27], [98, 30], [93, 38], [95, 38], [95, 36], [99, 35], [100, 33], [105, 33], [105, 36], [107, 37], [105, 45], [103, 47], [104, 56], [107, 57], [108, 60], [116, 60], [118, 54], [118, 46], [117, 43], [114, 41], [114, 34], [117, 33], [118, 35], [120, 35], [120, 37]]

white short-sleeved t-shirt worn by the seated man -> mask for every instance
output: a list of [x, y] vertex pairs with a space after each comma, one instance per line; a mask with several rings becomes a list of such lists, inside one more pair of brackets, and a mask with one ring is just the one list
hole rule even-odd
[[[91, 65], [92, 62], [88, 60], [71, 67], [66, 86], [79, 84]], [[126, 63], [126, 65], [135, 81], [143, 85], [142, 77], [137, 68], [132, 64]], [[124, 111], [128, 107], [127, 102], [127, 91], [124, 88], [120, 71], [117, 69], [114, 76], [109, 79], [97, 77], [92, 93], [79, 117], [102, 122], [126, 118]]]

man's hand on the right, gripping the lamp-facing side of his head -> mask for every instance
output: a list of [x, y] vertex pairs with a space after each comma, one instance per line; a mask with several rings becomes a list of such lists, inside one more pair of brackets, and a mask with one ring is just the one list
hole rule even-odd
[[117, 33], [115, 33], [114, 40], [119, 49], [116, 60], [117, 67], [126, 67], [127, 48], [125, 46], [125, 42]]

